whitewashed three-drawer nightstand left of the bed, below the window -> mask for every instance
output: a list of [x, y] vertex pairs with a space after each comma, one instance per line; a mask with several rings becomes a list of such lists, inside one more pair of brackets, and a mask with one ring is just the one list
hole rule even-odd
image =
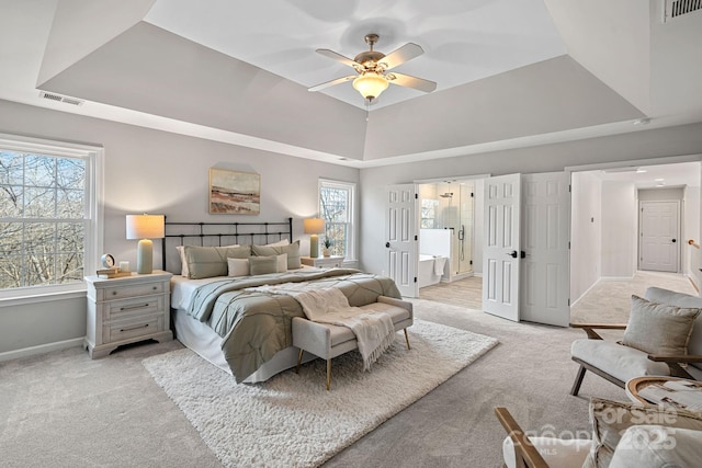
[[110, 279], [86, 276], [88, 330], [83, 347], [91, 358], [106, 356], [123, 344], [173, 339], [171, 276], [161, 271]]

